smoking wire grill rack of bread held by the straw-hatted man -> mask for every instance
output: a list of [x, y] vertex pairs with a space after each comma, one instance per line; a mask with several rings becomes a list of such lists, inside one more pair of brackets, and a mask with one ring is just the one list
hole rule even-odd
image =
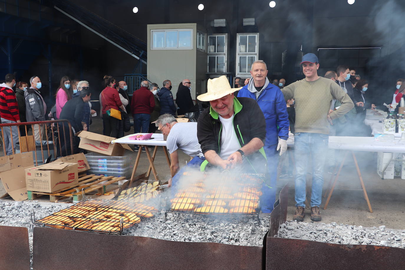
[[[185, 174], [187, 175], [187, 173]], [[181, 185], [166, 212], [204, 215], [258, 215], [262, 174], [192, 174], [198, 180]], [[211, 179], [211, 181], [207, 181]]]

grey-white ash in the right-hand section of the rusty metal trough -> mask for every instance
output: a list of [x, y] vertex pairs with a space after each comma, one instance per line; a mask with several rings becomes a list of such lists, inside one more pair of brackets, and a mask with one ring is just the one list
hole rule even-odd
[[288, 221], [281, 224], [279, 232], [281, 238], [405, 248], [405, 230], [386, 229], [384, 225], [377, 228], [336, 222], [325, 224]]

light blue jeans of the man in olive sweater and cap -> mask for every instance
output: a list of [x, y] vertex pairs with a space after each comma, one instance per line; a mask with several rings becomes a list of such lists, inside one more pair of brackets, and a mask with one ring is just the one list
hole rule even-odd
[[295, 151], [295, 202], [305, 207], [307, 164], [309, 154], [312, 162], [311, 207], [320, 206], [324, 185], [324, 163], [328, 152], [329, 135], [320, 133], [296, 132], [294, 134]]

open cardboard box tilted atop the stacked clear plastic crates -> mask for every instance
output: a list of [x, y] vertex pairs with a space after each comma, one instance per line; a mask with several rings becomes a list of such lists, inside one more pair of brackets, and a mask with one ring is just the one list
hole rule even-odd
[[123, 156], [125, 149], [133, 151], [127, 144], [111, 143], [112, 140], [116, 139], [113, 137], [84, 130], [77, 132], [75, 135], [80, 137], [79, 147], [88, 151], [115, 156]]

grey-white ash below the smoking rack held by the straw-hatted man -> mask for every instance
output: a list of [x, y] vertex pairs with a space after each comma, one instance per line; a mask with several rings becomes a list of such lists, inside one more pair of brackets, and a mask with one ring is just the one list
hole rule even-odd
[[220, 217], [167, 213], [124, 230], [125, 235], [144, 236], [181, 242], [216, 242], [241, 246], [263, 246], [269, 230], [269, 215], [256, 217]]

